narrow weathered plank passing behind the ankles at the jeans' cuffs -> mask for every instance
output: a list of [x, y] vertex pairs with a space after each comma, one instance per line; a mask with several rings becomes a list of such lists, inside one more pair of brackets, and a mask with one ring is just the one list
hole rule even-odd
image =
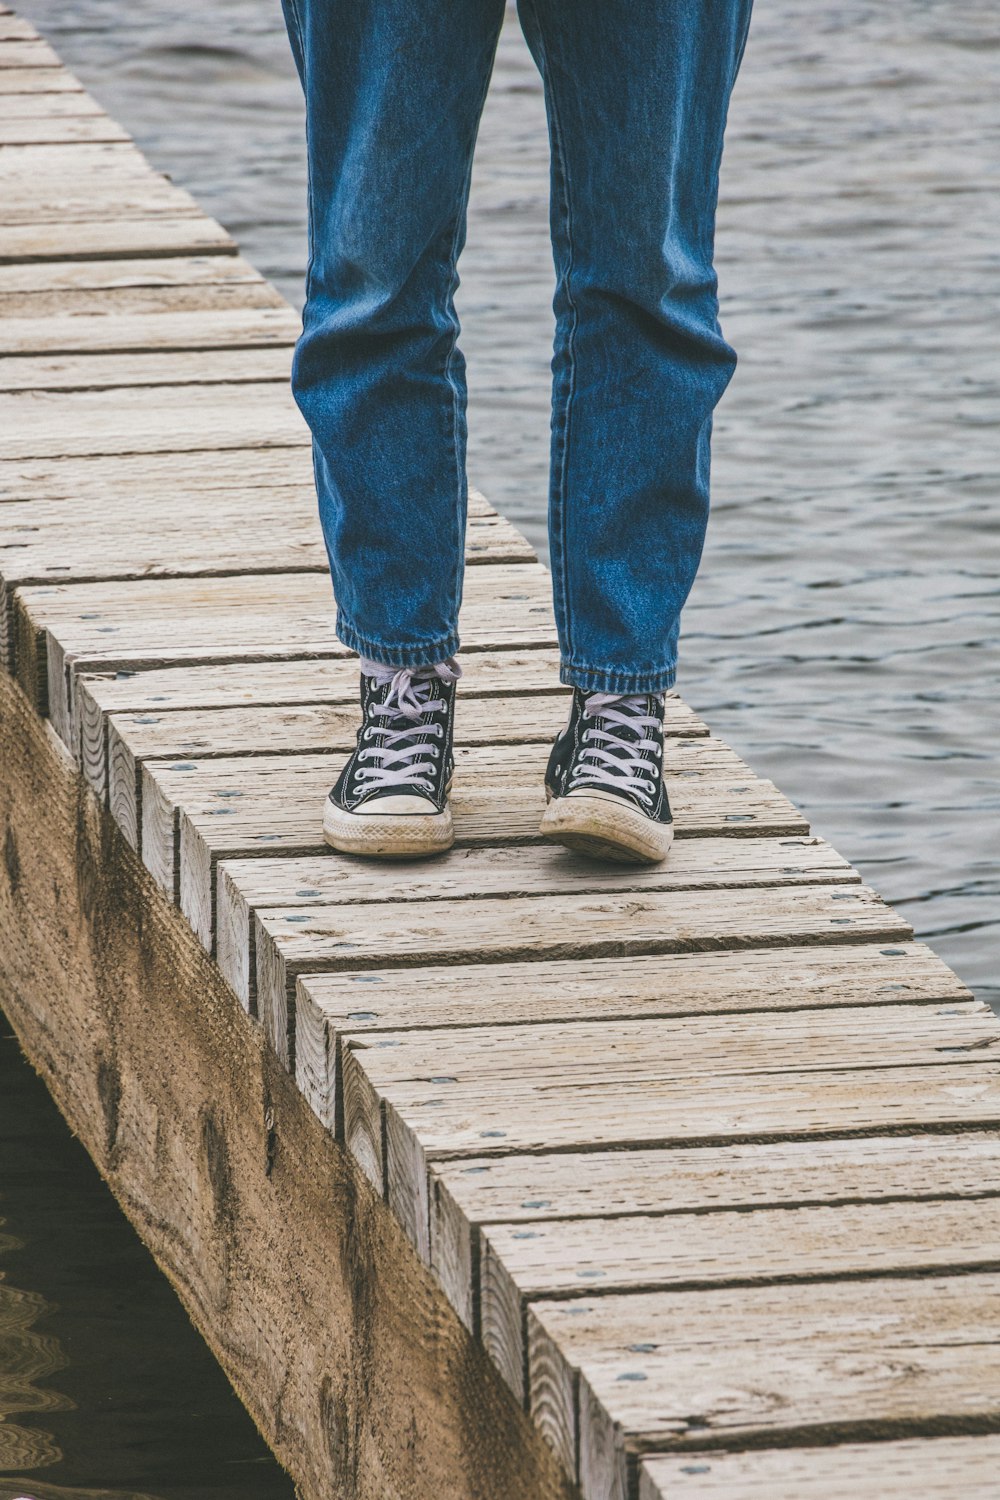
[[[282, 504], [276, 507], [282, 510]], [[472, 518], [471, 518], [472, 519]], [[483, 651], [463, 658], [462, 693], [477, 698], [559, 692], [558, 651]], [[568, 694], [568, 688], [562, 688]], [[147, 672], [81, 674], [76, 681], [72, 744], [84, 774], [106, 794], [106, 724], [112, 712], [162, 714], [171, 710], [277, 708], [294, 704], [357, 704], [358, 666], [339, 660], [243, 662]], [[691, 724], [708, 734], [691, 714]]]

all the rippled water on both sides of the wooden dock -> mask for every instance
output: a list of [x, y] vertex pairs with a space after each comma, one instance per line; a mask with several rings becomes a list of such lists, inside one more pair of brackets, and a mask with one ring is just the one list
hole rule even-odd
[[[154, 164], [298, 302], [301, 108], [277, 0], [22, 0], [21, 9]], [[723, 321], [741, 368], [717, 420], [714, 519], [679, 678], [712, 728], [994, 1005], [999, 86], [996, 0], [757, 0], [718, 236]], [[541, 546], [547, 146], [516, 24], [487, 104], [462, 274], [471, 476]], [[9, 1053], [7, 1044], [7, 1071]], [[0, 1098], [4, 1084], [6, 1072]], [[240, 1448], [234, 1416], [225, 1436], [201, 1416], [183, 1425], [177, 1390], [159, 1371], [169, 1364], [178, 1378], [184, 1338], [205, 1389], [211, 1362], [175, 1308], [171, 1322], [171, 1294], [135, 1248], [127, 1254], [144, 1290], [132, 1300], [132, 1287], [120, 1286], [127, 1318], [117, 1317], [99, 1275], [106, 1200], [43, 1114], [39, 1104], [36, 1160], [48, 1152], [66, 1166], [51, 1167], [51, 1190], [19, 1200], [13, 1233], [28, 1248], [3, 1264], [10, 1286], [58, 1304], [37, 1328], [70, 1364], [45, 1386], [75, 1394], [81, 1407], [12, 1418], [66, 1449], [63, 1464], [39, 1476], [195, 1497], [202, 1491], [184, 1468], [195, 1452], [210, 1470], [205, 1494], [286, 1494], [255, 1467], [252, 1440]], [[7, 1194], [16, 1191], [4, 1180], [15, 1124], [16, 1113], [0, 1114]], [[103, 1226], [96, 1239], [94, 1220]], [[115, 1272], [115, 1286], [130, 1275]], [[75, 1368], [73, 1350], [85, 1344], [67, 1335], [82, 1340], [75, 1330], [94, 1304], [117, 1386]], [[0, 1326], [7, 1347], [3, 1338]], [[88, 1467], [102, 1420], [91, 1392], [117, 1410], [118, 1426], [114, 1436], [108, 1419]], [[175, 1468], [157, 1448], [168, 1428]], [[136, 1449], [156, 1456], [126, 1478]], [[240, 1480], [225, 1478], [237, 1449], [247, 1462]], [[40, 1485], [24, 1492], [49, 1496]], [[10, 1500], [1, 1478], [0, 1500]]]

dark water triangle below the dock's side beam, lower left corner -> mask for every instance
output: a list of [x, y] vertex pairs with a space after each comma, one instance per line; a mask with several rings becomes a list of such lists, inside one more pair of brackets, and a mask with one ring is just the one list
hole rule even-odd
[[292, 1500], [0, 1016], [0, 1500]]

